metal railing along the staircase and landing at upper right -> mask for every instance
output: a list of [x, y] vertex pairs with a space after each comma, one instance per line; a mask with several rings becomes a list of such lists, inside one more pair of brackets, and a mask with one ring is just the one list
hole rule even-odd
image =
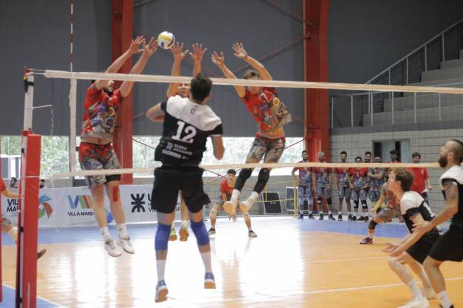
[[[455, 38], [455, 33], [458, 38]], [[441, 62], [446, 59], [459, 58], [460, 50], [463, 50], [463, 35], [459, 33], [463, 33], [463, 18], [397, 60], [366, 84], [420, 83], [423, 72], [439, 69]], [[449, 37], [446, 39], [446, 36]], [[435, 82], [432, 85], [463, 87], [463, 76], [450, 83]], [[456, 107], [463, 105], [462, 95], [431, 93], [352, 92], [333, 95], [330, 102], [331, 128], [454, 120], [459, 116], [459, 109], [463, 110]]]

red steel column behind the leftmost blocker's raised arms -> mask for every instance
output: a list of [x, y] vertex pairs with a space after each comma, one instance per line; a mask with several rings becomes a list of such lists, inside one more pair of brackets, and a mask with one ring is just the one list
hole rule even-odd
[[[117, 59], [130, 46], [132, 40], [133, 0], [113, 0], [112, 58]], [[132, 59], [125, 62], [119, 73], [130, 73]], [[120, 82], [116, 83], [116, 88]], [[118, 112], [114, 134], [114, 149], [122, 168], [132, 168], [132, 94], [125, 97]], [[121, 184], [132, 184], [132, 174], [123, 174]]]

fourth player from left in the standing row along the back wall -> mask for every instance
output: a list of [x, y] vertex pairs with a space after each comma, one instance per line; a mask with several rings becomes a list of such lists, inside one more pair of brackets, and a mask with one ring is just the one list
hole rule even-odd
[[[356, 163], [362, 162], [362, 157], [355, 157]], [[350, 168], [349, 170], [349, 186], [352, 189], [352, 199], [354, 201], [354, 211], [358, 211], [358, 201], [362, 203], [362, 212], [368, 212], [367, 192], [365, 188], [368, 186], [368, 168]], [[367, 214], [368, 215], [368, 214]], [[355, 214], [352, 217], [353, 221], [357, 220]], [[368, 222], [368, 216], [363, 217], [360, 214], [359, 221]]]

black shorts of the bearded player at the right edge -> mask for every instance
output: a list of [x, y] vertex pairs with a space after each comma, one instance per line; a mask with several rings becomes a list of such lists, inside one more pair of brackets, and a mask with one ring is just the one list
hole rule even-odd
[[442, 235], [430, 252], [430, 257], [437, 261], [455, 261], [463, 260], [463, 230], [449, 228]]

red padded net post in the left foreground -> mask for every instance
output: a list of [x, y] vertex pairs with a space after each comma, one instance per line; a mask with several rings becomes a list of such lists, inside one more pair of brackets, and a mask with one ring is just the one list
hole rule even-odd
[[36, 308], [41, 136], [23, 131], [19, 186], [16, 308]]

